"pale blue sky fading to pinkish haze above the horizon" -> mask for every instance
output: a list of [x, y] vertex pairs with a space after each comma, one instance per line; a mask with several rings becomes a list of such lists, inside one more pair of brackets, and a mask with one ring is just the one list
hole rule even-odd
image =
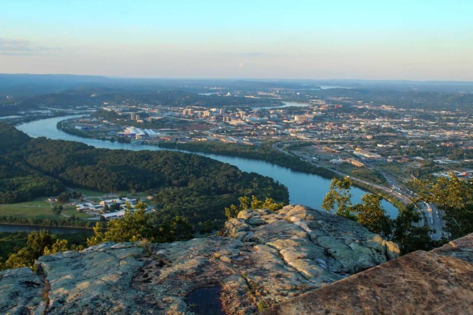
[[0, 0], [0, 73], [473, 81], [473, 0]]

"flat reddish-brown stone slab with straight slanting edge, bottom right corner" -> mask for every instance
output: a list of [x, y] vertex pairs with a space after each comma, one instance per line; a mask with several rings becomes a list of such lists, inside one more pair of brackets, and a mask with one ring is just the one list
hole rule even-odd
[[473, 314], [473, 234], [275, 305], [261, 315]]

